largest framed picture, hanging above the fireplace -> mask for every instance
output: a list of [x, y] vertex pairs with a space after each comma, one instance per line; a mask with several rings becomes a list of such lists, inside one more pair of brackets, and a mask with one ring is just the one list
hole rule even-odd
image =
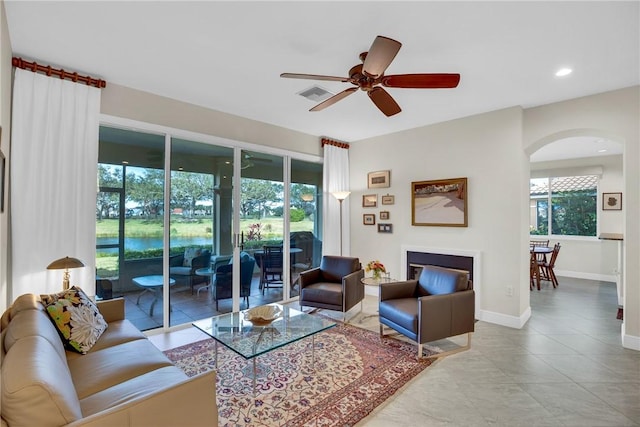
[[411, 183], [411, 225], [467, 227], [467, 178]]

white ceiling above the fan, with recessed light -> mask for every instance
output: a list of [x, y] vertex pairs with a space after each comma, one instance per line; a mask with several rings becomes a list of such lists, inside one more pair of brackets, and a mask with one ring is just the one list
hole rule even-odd
[[[638, 85], [639, 5], [5, 0], [14, 56], [348, 142]], [[377, 35], [403, 43], [387, 74], [460, 73], [460, 85], [388, 89], [403, 111], [385, 117], [364, 93], [308, 112], [297, 92], [350, 84], [279, 77], [347, 76]]]

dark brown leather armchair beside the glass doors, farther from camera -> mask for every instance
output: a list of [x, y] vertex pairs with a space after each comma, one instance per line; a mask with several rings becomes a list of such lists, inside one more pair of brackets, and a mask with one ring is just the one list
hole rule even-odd
[[343, 320], [364, 299], [364, 270], [358, 258], [325, 255], [320, 266], [300, 273], [300, 307], [341, 311]]

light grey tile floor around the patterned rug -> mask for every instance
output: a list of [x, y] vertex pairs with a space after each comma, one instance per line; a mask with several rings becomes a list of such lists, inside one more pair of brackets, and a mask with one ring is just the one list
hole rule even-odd
[[[522, 329], [478, 322], [471, 350], [435, 362], [358, 426], [640, 425], [640, 352], [620, 344], [615, 284], [559, 279], [531, 292]], [[376, 306], [367, 296], [364, 314]], [[364, 314], [349, 321], [377, 331]], [[168, 349], [205, 337], [189, 327], [150, 338]]]

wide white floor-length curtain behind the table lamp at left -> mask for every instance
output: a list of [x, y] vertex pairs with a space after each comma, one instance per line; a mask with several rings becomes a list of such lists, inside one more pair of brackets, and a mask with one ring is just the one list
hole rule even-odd
[[52, 261], [78, 258], [71, 285], [95, 294], [100, 89], [16, 69], [11, 138], [13, 298], [62, 290]]

